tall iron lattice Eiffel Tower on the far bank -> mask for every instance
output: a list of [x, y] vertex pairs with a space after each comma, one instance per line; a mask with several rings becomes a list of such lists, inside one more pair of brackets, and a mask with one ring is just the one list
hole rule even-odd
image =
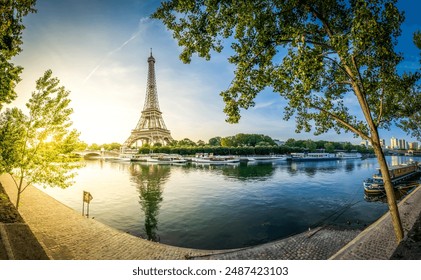
[[155, 58], [152, 56], [152, 49], [148, 58], [148, 65], [148, 84], [142, 115], [136, 128], [132, 130], [130, 137], [124, 142], [124, 148], [130, 148], [133, 144], [137, 146], [138, 141], [141, 141], [142, 145], [154, 145], [156, 143], [167, 145], [173, 140], [170, 131], [165, 126], [162, 112], [159, 110], [155, 80]]

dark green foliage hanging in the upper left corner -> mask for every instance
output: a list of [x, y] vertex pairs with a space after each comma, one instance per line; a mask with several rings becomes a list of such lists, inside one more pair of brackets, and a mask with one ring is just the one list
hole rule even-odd
[[35, 12], [35, 0], [8, 0], [0, 3], [0, 110], [16, 98], [15, 87], [22, 67], [10, 62], [22, 51], [22, 19]]

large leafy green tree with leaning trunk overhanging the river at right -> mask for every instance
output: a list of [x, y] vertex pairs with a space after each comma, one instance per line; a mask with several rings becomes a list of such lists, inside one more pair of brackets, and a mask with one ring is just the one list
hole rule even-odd
[[[284, 118], [296, 131], [350, 131], [371, 142], [382, 171], [395, 235], [402, 224], [379, 129], [395, 123], [421, 135], [419, 73], [399, 74], [394, 50], [403, 13], [396, 0], [169, 1], [152, 17], [164, 22], [188, 63], [231, 43], [235, 77], [221, 96], [228, 122], [254, 105], [266, 87], [287, 102]], [[354, 99], [361, 109], [347, 107]], [[418, 118], [417, 118], [418, 117]]]

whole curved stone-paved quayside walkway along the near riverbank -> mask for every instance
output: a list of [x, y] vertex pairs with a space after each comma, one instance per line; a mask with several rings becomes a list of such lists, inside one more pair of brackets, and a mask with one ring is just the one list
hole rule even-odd
[[[0, 181], [14, 202], [16, 190], [10, 176], [1, 175]], [[421, 212], [419, 189], [400, 203], [406, 232]], [[396, 248], [393, 229], [390, 221], [387, 221], [388, 214], [361, 234], [356, 230], [316, 228], [259, 246], [211, 251], [150, 242], [118, 231], [95, 220], [82, 217], [80, 213], [32, 186], [23, 193], [19, 212], [50, 259], [325, 260], [332, 255], [334, 255], [332, 259], [388, 259]], [[345, 246], [347, 243], [349, 245]], [[342, 247], [344, 248], [340, 250]], [[338, 250], [340, 251], [335, 254]]]

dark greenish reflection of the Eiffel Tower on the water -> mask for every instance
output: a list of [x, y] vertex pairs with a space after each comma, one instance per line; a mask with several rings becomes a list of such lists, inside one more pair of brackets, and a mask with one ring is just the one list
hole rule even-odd
[[129, 167], [130, 181], [136, 184], [139, 204], [145, 214], [146, 238], [159, 241], [158, 214], [162, 202], [163, 186], [170, 177], [170, 167], [165, 165], [132, 164]]

